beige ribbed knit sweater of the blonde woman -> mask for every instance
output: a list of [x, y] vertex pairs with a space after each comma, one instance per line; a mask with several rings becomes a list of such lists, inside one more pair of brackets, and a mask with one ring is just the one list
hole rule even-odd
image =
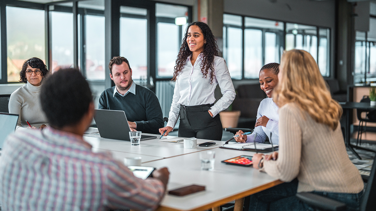
[[278, 159], [265, 161], [262, 170], [285, 182], [297, 177], [297, 192], [359, 193], [364, 186], [347, 155], [341, 125], [333, 131], [292, 103], [279, 109]]

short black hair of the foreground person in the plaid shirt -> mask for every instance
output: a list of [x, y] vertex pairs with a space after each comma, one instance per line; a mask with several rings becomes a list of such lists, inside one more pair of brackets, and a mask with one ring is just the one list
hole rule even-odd
[[62, 128], [78, 123], [92, 102], [89, 83], [79, 69], [61, 69], [48, 77], [40, 94], [50, 125]]

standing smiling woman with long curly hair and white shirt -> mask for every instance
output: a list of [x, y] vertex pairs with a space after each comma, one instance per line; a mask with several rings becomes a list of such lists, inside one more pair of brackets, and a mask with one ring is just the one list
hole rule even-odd
[[[229, 69], [218, 57], [218, 47], [208, 25], [188, 25], [174, 68], [176, 81], [167, 127], [159, 132], [168, 135], [180, 115], [179, 137], [221, 140], [219, 112], [229, 107], [235, 90]], [[214, 89], [219, 84], [222, 97], [214, 104]]]

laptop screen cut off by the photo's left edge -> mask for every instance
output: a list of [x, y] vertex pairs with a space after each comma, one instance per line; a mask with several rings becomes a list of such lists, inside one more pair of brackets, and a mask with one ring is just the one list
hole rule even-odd
[[18, 115], [0, 113], [0, 149], [3, 148], [6, 137], [16, 130]]

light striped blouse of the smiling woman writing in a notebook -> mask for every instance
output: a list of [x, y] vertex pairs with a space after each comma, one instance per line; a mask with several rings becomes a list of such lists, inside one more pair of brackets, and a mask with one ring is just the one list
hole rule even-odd
[[[266, 127], [257, 126], [252, 134], [247, 135], [246, 142], [259, 142], [264, 143], [266, 137], [269, 137], [272, 133], [271, 141], [273, 144], [279, 144], [279, 133], [278, 133], [278, 106], [273, 102], [272, 98], [265, 98], [260, 102], [259, 108], [257, 110], [257, 119], [261, 116], [266, 116], [269, 118]], [[256, 137], [255, 137], [256, 135]]]

